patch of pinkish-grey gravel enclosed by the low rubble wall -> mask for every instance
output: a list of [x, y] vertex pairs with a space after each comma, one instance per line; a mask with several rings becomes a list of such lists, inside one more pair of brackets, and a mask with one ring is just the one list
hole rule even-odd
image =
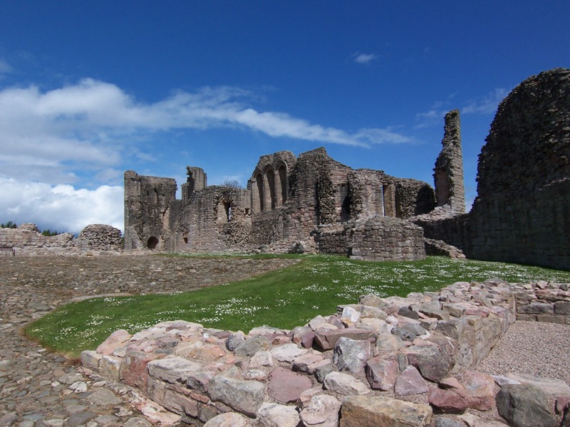
[[569, 361], [570, 325], [514, 322], [477, 369], [486, 374], [546, 376], [570, 384]]

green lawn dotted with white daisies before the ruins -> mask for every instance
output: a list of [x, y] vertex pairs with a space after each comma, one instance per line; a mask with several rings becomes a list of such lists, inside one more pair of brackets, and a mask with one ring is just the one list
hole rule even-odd
[[133, 334], [165, 320], [182, 319], [246, 333], [261, 325], [292, 329], [316, 315], [331, 315], [337, 305], [356, 303], [368, 293], [405, 296], [487, 278], [570, 283], [570, 271], [477, 260], [428, 257], [368, 263], [340, 256], [296, 257], [301, 262], [283, 270], [212, 288], [74, 302], [31, 323], [26, 334], [49, 349], [77, 357], [85, 349], [95, 349], [115, 330]]

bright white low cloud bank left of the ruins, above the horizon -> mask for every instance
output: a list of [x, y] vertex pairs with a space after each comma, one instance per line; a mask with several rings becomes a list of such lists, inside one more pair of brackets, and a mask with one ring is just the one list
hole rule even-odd
[[79, 233], [85, 226], [104, 223], [123, 229], [123, 187], [95, 190], [71, 185], [51, 186], [0, 177], [0, 222], [33, 222], [45, 230]]

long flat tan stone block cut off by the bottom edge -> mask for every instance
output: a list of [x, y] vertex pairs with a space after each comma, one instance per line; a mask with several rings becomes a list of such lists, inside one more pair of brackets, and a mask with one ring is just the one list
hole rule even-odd
[[341, 427], [427, 427], [431, 418], [430, 406], [385, 396], [347, 396], [341, 407]]

